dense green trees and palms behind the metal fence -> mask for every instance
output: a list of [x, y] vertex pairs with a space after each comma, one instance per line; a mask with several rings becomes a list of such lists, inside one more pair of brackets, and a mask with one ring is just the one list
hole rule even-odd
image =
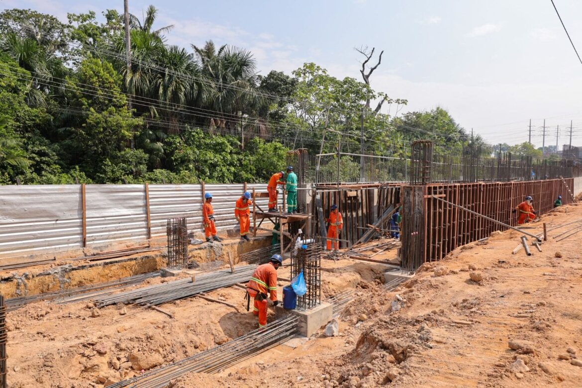
[[362, 127], [375, 155], [470, 140], [441, 108], [398, 116], [405, 100], [314, 63], [259, 76], [244, 49], [168, 45], [156, 14], [130, 18], [129, 70], [115, 10], [0, 14], [0, 184], [265, 181], [288, 149], [359, 152]]

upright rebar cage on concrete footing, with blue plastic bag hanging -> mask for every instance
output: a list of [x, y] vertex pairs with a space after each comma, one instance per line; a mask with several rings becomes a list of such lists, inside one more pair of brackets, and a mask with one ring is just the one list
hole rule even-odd
[[308, 310], [321, 303], [321, 243], [301, 244], [291, 251], [291, 277], [303, 272], [307, 292], [297, 296], [297, 309]]

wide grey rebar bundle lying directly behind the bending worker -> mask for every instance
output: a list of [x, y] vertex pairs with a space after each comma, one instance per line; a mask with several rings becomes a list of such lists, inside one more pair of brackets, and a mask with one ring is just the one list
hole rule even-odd
[[236, 283], [247, 282], [253, 275], [256, 265], [246, 265], [235, 268], [231, 273], [230, 269], [204, 273], [192, 279], [180, 279], [174, 282], [157, 284], [150, 287], [142, 287], [137, 290], [126, 291], [124, 293], [106, 295], [94, 298], [96, 307], [105, 307], [117, 303], [134, 303], [142, 306], [157, 306], [167, 302], [190, 298], [200, 293], [230, 287]]

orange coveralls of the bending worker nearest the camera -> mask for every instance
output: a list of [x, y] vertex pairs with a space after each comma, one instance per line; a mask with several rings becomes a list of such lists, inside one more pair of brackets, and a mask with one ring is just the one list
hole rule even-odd
[[[267, 294], [272, 301], [277, 300], [277, 270], [272, 263], [262, 264], [255, 269], [247, 283], [247, 292], [254, 298], [253, 314], [258, 315], [258, 326], [267, 325]], [[261, 294], [257, 300], [258, 294]]]

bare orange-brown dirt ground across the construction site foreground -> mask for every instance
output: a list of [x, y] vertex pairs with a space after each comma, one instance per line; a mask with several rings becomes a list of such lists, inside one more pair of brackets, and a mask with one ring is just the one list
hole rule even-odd
[[[548, 229], [582, 222], [582, 206], [564, 211], [542, 222]], [[528, 232], [541, 232], [541, 223], [531, 226]], [[324, 296], [357, 289], [338, 336], [281, 345], [216, 375], [182, 376], [172, 386], [580, 387], [582, 233], [552, 239], [574, 226], [549, 232], [542, 252], [532, 247], [530, 257], [511, 254], [519, 232], [494, 233], [486, 243], [423, 265], [392, 292], [377, 285], [383, 265], [324, 261]], [[289, 277], [289, 269], [279, 276]], [[279, 292], [286, 283], [279, 282]], [[87, 302], [41, 302], [10, 312], [9, 386], [102, 387], [224, 343], [257, 325], [243, 294], [237, 287], [209, 293], [236, 310], [200, 298], [162, 306], [175, 319], [123, 306], [93, 314]]]

